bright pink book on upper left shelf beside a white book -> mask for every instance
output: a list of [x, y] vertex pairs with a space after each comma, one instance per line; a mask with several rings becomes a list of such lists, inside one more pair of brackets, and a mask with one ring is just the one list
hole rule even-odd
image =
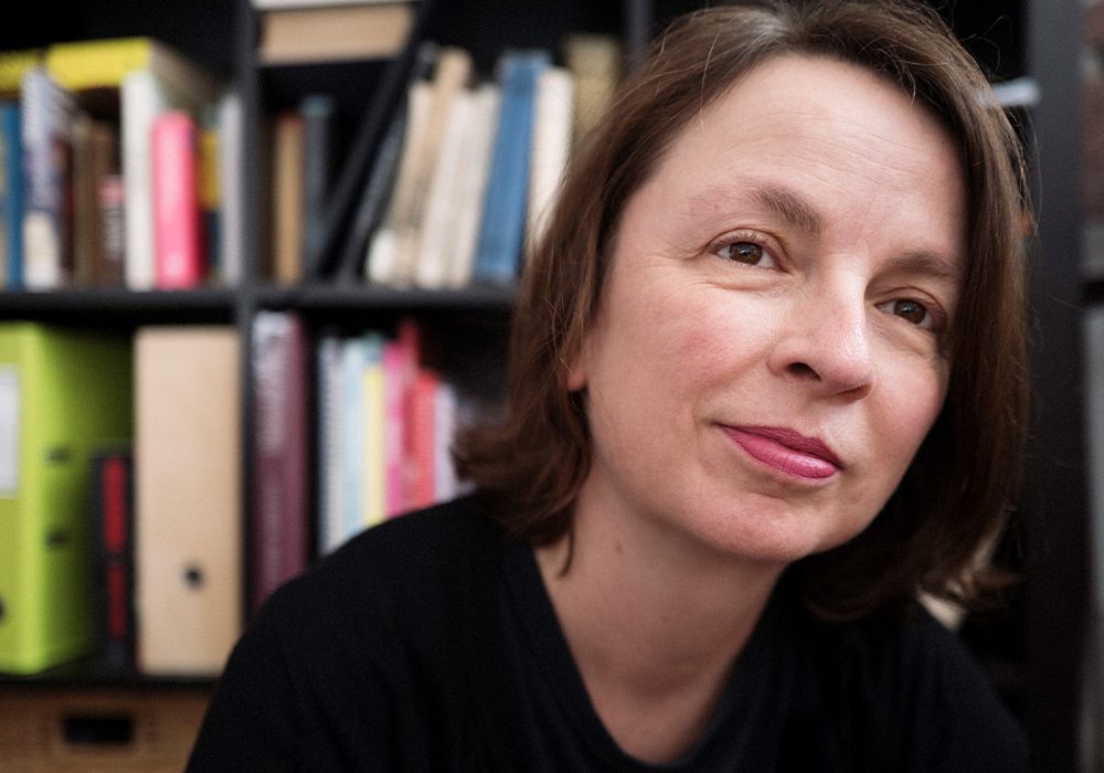
[[153, 123], [153, 265], [157, 289], [188, 289], [203, 280], [195, 120], [169, 110]]

